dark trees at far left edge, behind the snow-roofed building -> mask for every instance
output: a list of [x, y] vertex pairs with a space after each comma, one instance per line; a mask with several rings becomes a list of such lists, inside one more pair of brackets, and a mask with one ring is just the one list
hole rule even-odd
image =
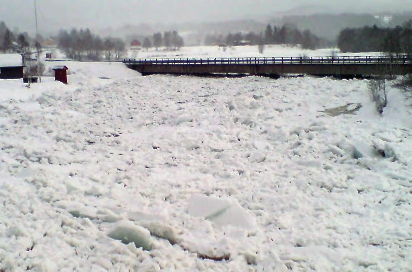
[[[35, 42], [33, 41], [33, 46]], [[0, 22], [0, 50], [4, 53], [25, 52], [30, 48], [30, 38], [26, 32], [14, 33], [6, 23]]]

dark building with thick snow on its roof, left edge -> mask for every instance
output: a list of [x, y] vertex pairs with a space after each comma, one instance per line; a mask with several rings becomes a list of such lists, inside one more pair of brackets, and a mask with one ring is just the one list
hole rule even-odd
[[20, 54], [0, 54], [0, 79], [23, 78], [23, 57]]

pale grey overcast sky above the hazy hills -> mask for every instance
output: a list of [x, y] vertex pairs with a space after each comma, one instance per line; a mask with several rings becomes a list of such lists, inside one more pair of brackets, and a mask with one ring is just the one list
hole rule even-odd
[[[410, 11], [412, 0], [37, 0], [39, 26], [106, 28], [125, 24], [224, 21], [267, 17], [297, 7], [319, 12]], [[0, 20], [34, 30], [33, 0], [0, 0]]]

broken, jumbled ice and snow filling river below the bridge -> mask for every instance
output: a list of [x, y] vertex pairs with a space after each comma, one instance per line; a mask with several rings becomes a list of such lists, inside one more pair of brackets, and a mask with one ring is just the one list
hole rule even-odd
[[0, 271], [410, 270], [401, 90], [67, 65], [0, 80]]

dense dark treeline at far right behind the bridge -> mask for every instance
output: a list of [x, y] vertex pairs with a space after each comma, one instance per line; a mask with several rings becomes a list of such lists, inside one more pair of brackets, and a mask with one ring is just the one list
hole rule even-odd
[[339, 33], [337, 46], [342, 52], [412, 54], [412, 20], [395, 28], [345, 28]]

